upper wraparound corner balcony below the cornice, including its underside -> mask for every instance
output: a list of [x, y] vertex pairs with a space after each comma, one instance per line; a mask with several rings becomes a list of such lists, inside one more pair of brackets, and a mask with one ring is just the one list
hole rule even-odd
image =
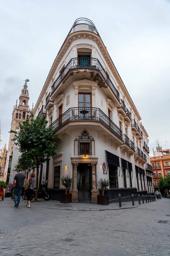
[[102, 64], [96, 58], [71, 58], [62, 72], [59, 74], [57, 79], [54, 81], [51, 86], [51, 98], [56, 99], [57, 95], [62, 93], [62, 90], [59, 92], [56, 90], [59, 89], [60, 85], [66, 89], [67, 86], [71, 84], [74, 80], [82, 79], [82, 72], [85, 73], [85, 78], [91, 81], [96, 81], [99, 87], [104, 88], [105, 93], [108, 96], [113, 95], [111, 99], [116, 107], [120, 105], [119, 102], [119, 92], [116, 90], [113, 82], [106, 73], [105, 69], [102, 67]]

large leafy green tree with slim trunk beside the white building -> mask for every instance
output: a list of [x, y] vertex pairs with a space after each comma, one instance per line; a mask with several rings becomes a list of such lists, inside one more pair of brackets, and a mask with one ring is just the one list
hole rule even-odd
[[47, 123], [45, 116], [34, 119], [34, 115], [31, 113], [31, 119], [27, 118], [24, 122], [19, 123], [19, 132], [10, 131], [15, 133], [13, 141], [19, 151], [31, 159], [37, 167], [35, 202], [37, 202], [38, 195], [39, 166], [54, 156], [57, 148], [57, 144], [53, 142], [55, 131], [51, 126], [47, 127]]

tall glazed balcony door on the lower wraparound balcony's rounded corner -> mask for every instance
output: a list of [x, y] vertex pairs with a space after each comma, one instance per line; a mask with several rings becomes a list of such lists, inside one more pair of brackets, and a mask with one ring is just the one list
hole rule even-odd
[[79, 116], [87, 119], [91, 116], [91, 93], [79, 93]]

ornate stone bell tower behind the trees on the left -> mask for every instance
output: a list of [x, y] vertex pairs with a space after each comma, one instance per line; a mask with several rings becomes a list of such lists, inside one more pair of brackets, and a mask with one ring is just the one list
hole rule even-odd
[[[27, 82], [27, 80], [26, 80]], [[14, 106], [14, 110], [12, 112], [12, 121], [11, 121], [11, 130], [13, 131], [19, 131], [19, 123], [23, 122], [27, 117], [30, 118], [31, 116], [31, 109], [28, 105], [29, 101], [29, 93], [28, 93], [28, 87], [25, 83], [23, 86], [23, 90], [21, 91], [21, 95], [19, 97], [19, 104]], [[6, 169], [4, 174], [4, 181], [7, 182], [7, 189], [6, 193], [10, 191], [11, 186], [13, 185], [13, 177], [14, 172], [12, 170], [12, 166], [14, 168], [15, 164], [17, 163], [17, 159], [20, 155], [20, 153], [17, 151], [17, 148], [14, 147], [14, 142], [12, 139], [14, 138], [14, 133], [10, 133], [9, 136], [9, 143], [8, 143], [8, 154], [7, 154], [7, 160], [6, 160]], [[13, 158], [13, 152], [17, 151], [16, 154], [14, 154], [16, 157]], [[11, 178], [10, 178], [11, 175]]]

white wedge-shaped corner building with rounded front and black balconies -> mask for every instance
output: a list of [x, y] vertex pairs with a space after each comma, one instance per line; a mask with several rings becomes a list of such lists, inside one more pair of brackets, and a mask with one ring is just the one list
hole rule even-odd
[[[55, 129], [56, 156], [40, 166], [51, 198], [59, 200], [61, 177], [72, 178], [72, 202], [97, 202], [99, 179], [110, 181], [110, 200], [147, 187], [148, 134], [91, 20], [75, 21], [42, 88], [35, 116]], [[150, 166], [151, 167], [151, 166]]]

